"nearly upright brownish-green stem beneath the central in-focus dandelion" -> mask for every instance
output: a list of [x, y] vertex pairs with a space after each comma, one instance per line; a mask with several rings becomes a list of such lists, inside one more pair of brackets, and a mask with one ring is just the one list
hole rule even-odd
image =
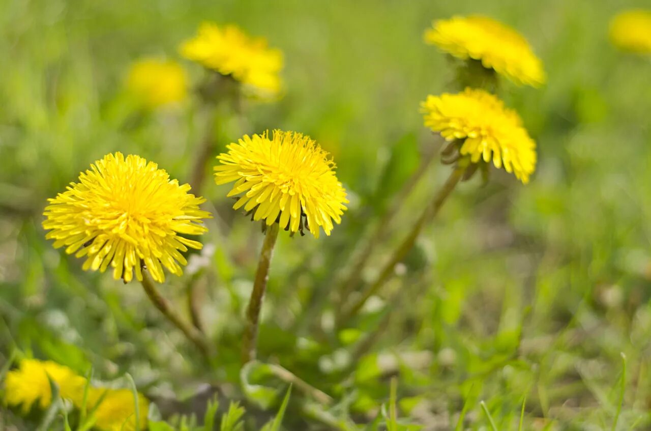
[[249, 299], [249, 306], [246, 312], [247, 328], [242, 341], [243, 363], [252, 361], [256, 357], [258, 320], [260, 319], [260, 309], [262, 309], [262, 299], [267, 288], [271, 255], [273, 255], [273, 246], [276, 243], [276, 238], [278, 238], [278, 231], [278, 223], [273, 223], [271, 226], [268, 226], [267, 234], [264, 236], [264, 243], [262, 243], [258, 269], [255, 272], [255, 281], [253, 282], [253, 291], [251, 292], [251, 299]]

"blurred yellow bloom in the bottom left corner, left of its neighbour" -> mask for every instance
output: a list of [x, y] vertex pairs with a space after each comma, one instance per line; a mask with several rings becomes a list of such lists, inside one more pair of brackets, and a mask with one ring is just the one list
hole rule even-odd
[[5, 376], [5, 401], [10, 406], [22, 404], [23, 411], [29, 411], [35, 402], [40, 408], [47, 408], [52, 402], [49, 378], [59, 386], [61, 398], [79, 402], [83, 398], [86, 379], [73, 370], [52, 361], [23, 359], [18, 368]]

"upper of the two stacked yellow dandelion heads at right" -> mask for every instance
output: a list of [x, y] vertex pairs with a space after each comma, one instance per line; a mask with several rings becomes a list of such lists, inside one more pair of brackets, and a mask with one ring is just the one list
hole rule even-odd
[[481, 61], [518, 84], [545, 83], [542, 62], [514, 29], [485, 16], [455, 16], [434, 21], [424, 40], [458, 59]]

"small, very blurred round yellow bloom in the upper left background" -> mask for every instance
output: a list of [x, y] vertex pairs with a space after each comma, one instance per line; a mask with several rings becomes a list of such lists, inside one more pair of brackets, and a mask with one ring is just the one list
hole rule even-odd
[[186, 71], [174, 61], [141, 59], [132, 64], [126, 86], [145, 107], [174, 104], [186, 98]]

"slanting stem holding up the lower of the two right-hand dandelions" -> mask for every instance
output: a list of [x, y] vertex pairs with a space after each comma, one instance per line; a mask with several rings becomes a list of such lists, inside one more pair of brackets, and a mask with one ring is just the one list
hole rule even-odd
[[384, 285], [384, 283], [386, 283], [391, 278], [396, 264], [404, 259], [407, 253], [409, 253], [411, 247], [413, 247], [413, 245], [416, 243], [416, 239], [421, 233], [421, 230], [439, 212], [441, 206], [443, 206], [443, 202], [445, 202], [452, 190], [454, 190], [456, 187], [456, 184], [461, 180], [462, 176], [464, 176], [466, 167], [466, 164], [460, 163], [457, 165], [454, 171], [452, 171], [445, 184], [443, 184], [443, 187], [439, 189], [438, 193], [436, 193], [434, 200], [425, 208], [425, 210], [422, 212], [421, 217], [413, 225], [408, 236], [402, 241], [402, 243], [400, 243], [398, 248], [393, 251], [391, 258], [389, 258], [389, 261], [383, 266], [382, 270], [380, 271], [380, 275], [378, 275], [377, 279], [366, 289], [361, 298], [357, 299], [357, 301], [353, 303], [352, 307], [340, 314], [338, 323], [344, 322], [350, 316], [353, 316], [359, 312], [366, 301], [368, 301], [368, 298], [374, 296]]

